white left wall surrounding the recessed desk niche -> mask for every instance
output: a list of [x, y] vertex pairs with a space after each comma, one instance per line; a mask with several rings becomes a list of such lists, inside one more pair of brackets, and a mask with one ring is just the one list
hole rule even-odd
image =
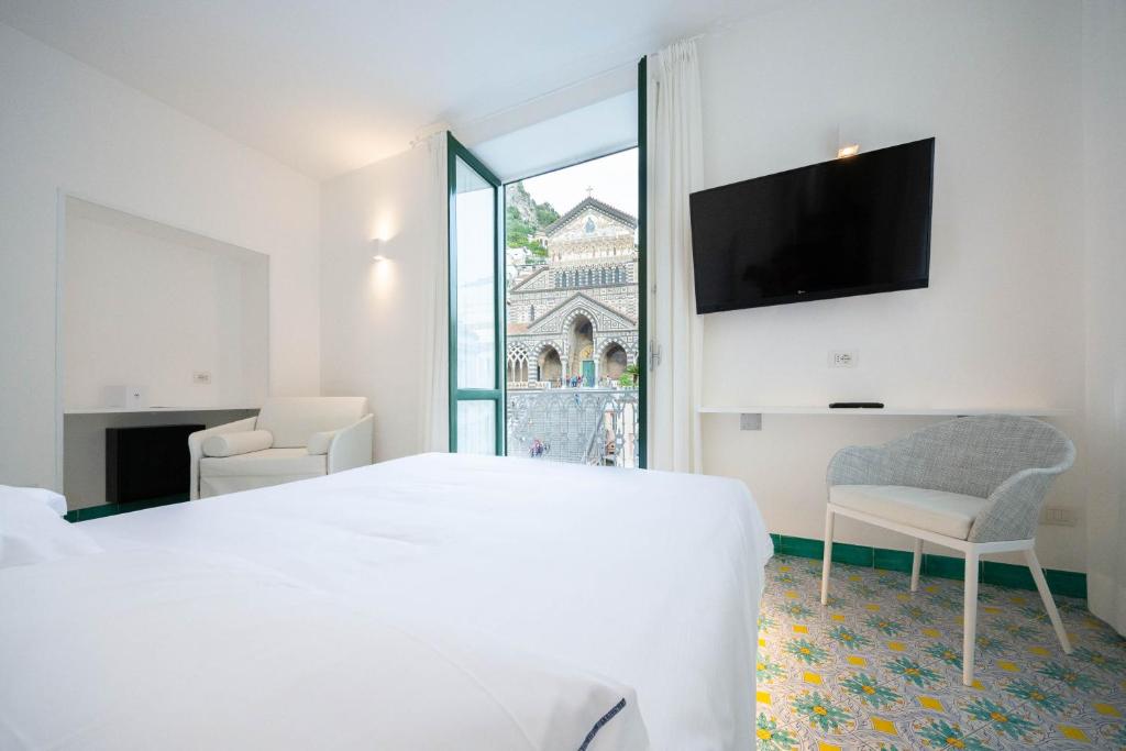
[[59, 191], [270, 256], [270, 383], [318, 393], [318, 185], [0, 25], [0, 482], [60, 488]]

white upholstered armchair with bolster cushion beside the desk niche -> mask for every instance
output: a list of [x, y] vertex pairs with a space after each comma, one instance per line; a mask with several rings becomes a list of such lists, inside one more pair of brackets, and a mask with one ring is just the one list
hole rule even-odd
[[363, 396], [269, 399], [256, 418], [188, 436], [190, 497], [208, 498], [372, 464]]

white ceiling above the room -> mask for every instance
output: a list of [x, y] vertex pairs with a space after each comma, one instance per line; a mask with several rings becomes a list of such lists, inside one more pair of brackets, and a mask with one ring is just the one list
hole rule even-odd
[[776, 5], [0, 0], [0, 23], [324, 179]]

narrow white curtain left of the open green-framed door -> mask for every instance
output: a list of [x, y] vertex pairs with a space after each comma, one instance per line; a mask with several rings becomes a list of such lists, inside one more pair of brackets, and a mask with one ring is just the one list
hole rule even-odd
[[428, 206], [426, 253], [428, 284], [423, 301], [422, 372], [419, 378], [419, 436], [422, 452], [449, 450], [449, 315], [448, 196], [446, 132], [434, 133], [414, 146], [426, 150]]

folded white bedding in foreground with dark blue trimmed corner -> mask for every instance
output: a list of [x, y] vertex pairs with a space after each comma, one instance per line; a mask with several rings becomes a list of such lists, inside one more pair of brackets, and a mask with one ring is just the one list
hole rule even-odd
[[646, 748], [628, 688], [406, 631], [235, 561], [5, 567], [0, 613], [5, 751], [574, 751], [592, 733], [591, 751]]

